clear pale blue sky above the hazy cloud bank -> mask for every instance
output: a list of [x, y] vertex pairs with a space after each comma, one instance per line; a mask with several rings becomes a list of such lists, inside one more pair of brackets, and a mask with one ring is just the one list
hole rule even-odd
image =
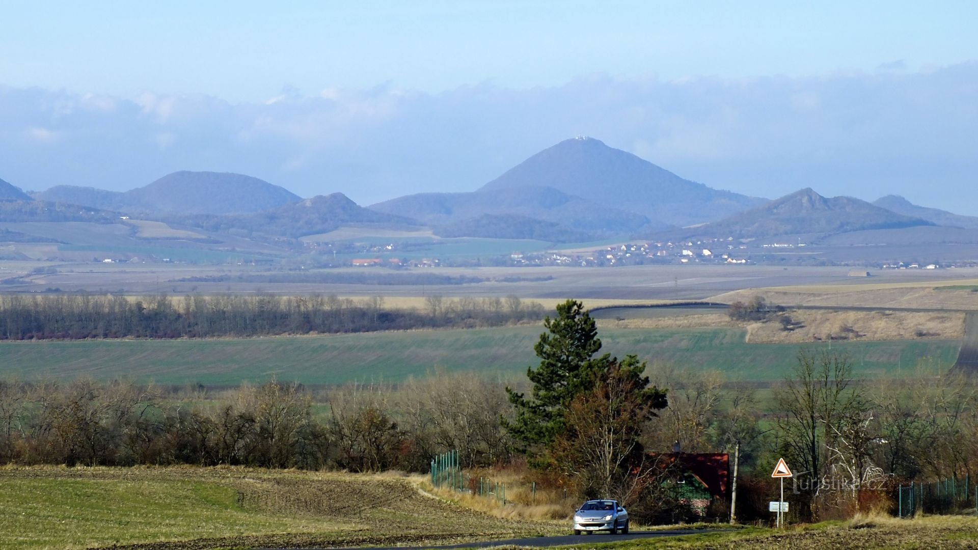
[[[274, 6], [274, 7], [273, 7]], [[978, 58], [975, 2], [3, 2], [13, 86], [261, 101], [284, 86], [526, 88]], [[13, 24], [11, 24], [13, 23]]]

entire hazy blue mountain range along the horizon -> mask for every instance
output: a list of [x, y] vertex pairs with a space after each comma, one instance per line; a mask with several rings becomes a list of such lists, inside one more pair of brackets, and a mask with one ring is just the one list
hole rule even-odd
[[263, 239], [367, 225], [427, 227], [440, 237], [561, 243], [663, 236], [750, 239], [935, 225], [978, 228], [978, 218], [915, 206], [896, 196], [870, 204], [803, 189], [769, 202], [716, 190], [594, 138], [561, 141], [474, 191], [406, 195], [368, 207], [340, 193], [303, 200], [255, 177], [194, 171], [173, 172], [121, 193], [62, 185], [34, 193], [33, 199], [28, 203], [31, 197], [0, 180], [0, 202], [7, 205], [0, 208], [0, 221], [34, 216], [106, 223], [131, 215]]

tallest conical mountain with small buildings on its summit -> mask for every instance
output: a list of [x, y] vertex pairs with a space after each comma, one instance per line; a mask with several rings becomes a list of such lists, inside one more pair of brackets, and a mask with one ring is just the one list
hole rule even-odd
[[712, 221], [765, 202], [683, 179], [594, 138], [562, 141], [523, 160], [480, 191], [525, 187], [552, 187], [673, 225]]

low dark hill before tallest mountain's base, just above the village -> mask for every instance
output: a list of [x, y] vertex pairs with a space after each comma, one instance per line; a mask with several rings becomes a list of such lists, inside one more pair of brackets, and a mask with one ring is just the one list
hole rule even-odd
[[584, 231], [517, 214], [482, 214], [476, 218], [436, 227], [434, 234], [439, 237], [535, 239], [551, 243], [582, 243], [593, 239], [592, 234]]

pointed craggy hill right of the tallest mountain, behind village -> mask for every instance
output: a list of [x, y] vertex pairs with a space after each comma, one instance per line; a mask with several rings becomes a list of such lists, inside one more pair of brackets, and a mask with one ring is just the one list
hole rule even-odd
[[687, 228], [675, 232], [675, 235], [681, 238], [756, 238], [921, 225], [933, 224], [852, 197], [826, 199], [811, 189], [802, 189], [767, 205], [733, 214], [720, 221]]

